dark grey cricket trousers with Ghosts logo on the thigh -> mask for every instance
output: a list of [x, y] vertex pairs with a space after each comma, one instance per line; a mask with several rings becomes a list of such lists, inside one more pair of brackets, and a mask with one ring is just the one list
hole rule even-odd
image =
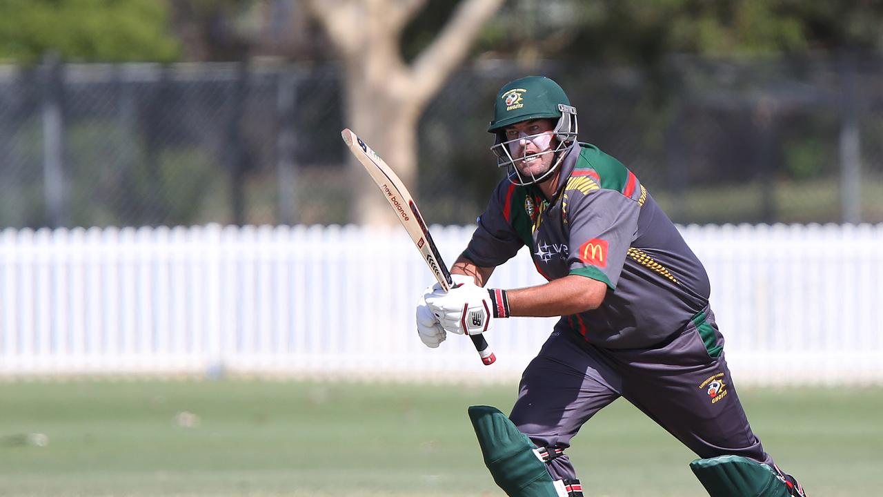
[[[623, 397], [699, 457], [772, 464], [736, 394], [713, 313], [702, 314], [700, 326], [691, 321], [652, 348], [630, 349], [595, 347], [562, 320], [525, 369], [509, 418], [537, 447], [563, 450], [596, 412]], [[577, 478], [566, 453], [547, 468], [553, 478]]]

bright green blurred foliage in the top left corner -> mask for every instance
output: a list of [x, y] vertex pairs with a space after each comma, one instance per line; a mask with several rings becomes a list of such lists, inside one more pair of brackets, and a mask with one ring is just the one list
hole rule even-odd
[[162, 0], [0, 2], [0, 60], [34, 64], [49, 51], [68, 61], [169, 62], [180, 48]]

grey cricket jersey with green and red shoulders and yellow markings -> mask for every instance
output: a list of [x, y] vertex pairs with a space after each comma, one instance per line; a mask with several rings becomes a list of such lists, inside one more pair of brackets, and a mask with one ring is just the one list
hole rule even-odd
[[574, 143], [566, 154], [552, 199], [502, 180], [464, 256], [494, 267], [527, 246], [548, 280], [576, 274], [603, 282], [598, 309], [555, 325], [597, 347], [651, 347], [691, 320], [699, 325], [706, 270], [645, 186], [594, 145]]

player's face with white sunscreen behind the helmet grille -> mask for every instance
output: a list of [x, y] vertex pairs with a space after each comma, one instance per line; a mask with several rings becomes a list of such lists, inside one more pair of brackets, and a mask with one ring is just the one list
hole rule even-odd
[[509, 154], [523, 178], [539, 178], [552, 167], [555, 161], [552, 151], [556, 144], [554, 129], [553, 119], [531, 119], [506, 126], [503, 130]]

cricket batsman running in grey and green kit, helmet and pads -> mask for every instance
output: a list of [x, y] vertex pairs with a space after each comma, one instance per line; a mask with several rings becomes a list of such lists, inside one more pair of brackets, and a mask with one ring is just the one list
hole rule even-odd
[[[417, 329], [435, 348], [496, 319], [561, 317], [509, 417], [469, 409], [496, 484], [512, 497], [582, 496], [570, 439], [624, 397], [698, 455], [691, 469], [712, 497], [805, 497], [751, 432], [705, 268], [635, 174], [577, 141], [562, 88], [540, 76], [507, 83], [487, 131], [508, 178], [452, 267], [457, 287], [420, 298]], [[547, 283], [485, 288], [523, 246]]]

